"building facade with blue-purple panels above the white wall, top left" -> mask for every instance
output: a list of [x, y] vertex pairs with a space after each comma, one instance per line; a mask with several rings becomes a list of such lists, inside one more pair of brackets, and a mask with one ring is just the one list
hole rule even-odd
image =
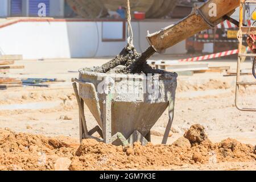
[[39, 16], [43, 8], [44, 16], [64, 17], [65, 0], [0, 0], [0, 17]]

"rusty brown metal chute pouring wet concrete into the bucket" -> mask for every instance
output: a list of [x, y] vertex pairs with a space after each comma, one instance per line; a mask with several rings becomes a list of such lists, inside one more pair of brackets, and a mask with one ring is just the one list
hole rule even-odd
[[[210, 3], [217, 5], [217, 16], [209, 15]], [[179, 23], [148, 35], [148, 42], [156, 52], [163, 52], [165, 49], [195, 35], [197, 32], [206, 30], [209, 28], [209, 24], [222, 22], [224, 20], [222, 17], [233, 14], [234, 9], [239, 5], [239, 0], [209, 0], [186, 18], [180, 20]]]

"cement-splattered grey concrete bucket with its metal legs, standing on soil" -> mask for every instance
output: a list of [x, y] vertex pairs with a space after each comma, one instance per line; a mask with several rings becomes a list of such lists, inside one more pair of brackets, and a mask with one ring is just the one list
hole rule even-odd
[[[146, 144], [150, 142], [150, 130], [168, 107], [169, 121], [162, 143], [167, 142], [174, 117], [176, 73], [144, 76], [82, 69], [79, 72], [79, 79], [72, 81], [80, 109], [80, 140], [94, 138], [115, 145]], [[90, 131], [86, 127], [84, 103], [98, 124]], [[92, 137], [96, 132], [102, 139]]]

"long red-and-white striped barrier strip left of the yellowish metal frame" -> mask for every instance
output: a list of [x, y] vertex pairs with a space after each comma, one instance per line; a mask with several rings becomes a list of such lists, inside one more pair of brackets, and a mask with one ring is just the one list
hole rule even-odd
[[188, 58], [188, 59], [180, 59], [178, 61], [181, 61], [181, 62], [203, 61], [203, 60], [214, 59], [214, 58], [217, 58], [217, 57], [235, 55], [237, 53], [238, 53], [238, 49], [234, 49], [234, 50], [231, 50], [231, 51], [212, 53], [210, 55], [205, 55], [205, 56], [191, 57], [191, 58]]

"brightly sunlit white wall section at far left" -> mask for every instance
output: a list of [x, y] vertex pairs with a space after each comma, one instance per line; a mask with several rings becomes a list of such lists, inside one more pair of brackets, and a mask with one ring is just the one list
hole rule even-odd
[[0, 47], [24, 59], [70, 57], [65, 22], [22, 22], [0, 28]]

